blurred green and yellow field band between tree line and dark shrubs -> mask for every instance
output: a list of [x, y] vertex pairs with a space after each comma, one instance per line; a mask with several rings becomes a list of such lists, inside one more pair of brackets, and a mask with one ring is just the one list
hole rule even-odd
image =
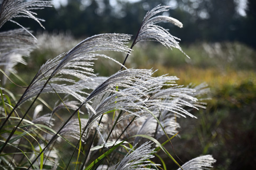
[[159, 44], [147, 44], [142, 49], [146, 54], [135, 49], [131, 55], [131, 67], [158, 68], [158, 76], [178, 76], [180, 85], [206, 82], [210, 88], [219, 89], [247, 81], [256, 83], [256, 51], [237, 42], [185, 46], [182, 49], [190, 59], [177, 49], [170, 51]]

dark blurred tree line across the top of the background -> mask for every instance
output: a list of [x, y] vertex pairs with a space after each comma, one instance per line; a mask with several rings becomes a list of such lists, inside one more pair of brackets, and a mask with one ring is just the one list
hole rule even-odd
[[[101, 33], [136, 34], [145, 13], [158, 4], [175, 2], [166, 15], [183, 23], [183, 28], [168, 26], [171, 34], [182, 42], [240, 41], [256, 48], [256, 1], [247, 0], [247, 16], [237, 13], [233, 0], [141, 0], [137, 3], [116, 0], [68, 0], [60, 8], [45, 8], [38, 11], [44, 18], [48, 32], [70, 32], [75, 37]], [[19, 20], [19, 18], [17, 19]], [[36, 22], [22, 19], [23, 26], [35, 32], [43, 31]], [[9, 29], [6, 24], [1, 29]]]

